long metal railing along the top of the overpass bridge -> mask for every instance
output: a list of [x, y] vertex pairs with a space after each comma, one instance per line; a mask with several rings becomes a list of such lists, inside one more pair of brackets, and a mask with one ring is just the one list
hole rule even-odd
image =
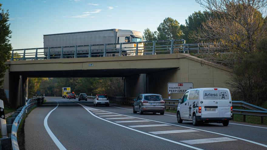
[[[122, 47], [122, 45], [133, 45]], [[80, 57], [106, 57], [106, 56], [132, 56], [132, 55], [156, 55], [173, 53], [213, 53], [215, 49], [220, 52], [228, 52], [228, 48], [220, 43], [196, 43], [185, 44], [184, 39], [111, 43], [97, 45], [73, 45], [45, 48], [13, 49], [13, 60], [38, 60], [53, 58], [80, 58]]]

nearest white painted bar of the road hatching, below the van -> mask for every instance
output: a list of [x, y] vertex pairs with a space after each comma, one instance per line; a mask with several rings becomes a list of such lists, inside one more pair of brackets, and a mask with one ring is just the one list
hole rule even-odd
[[237, 141], [237, 139], [222, 137], [222, 138], [204, 138], [204, 139], [196, 139], [196, 140], [185, 140], [180, 141], [187, 144], [204, 144], [204, 143], [214, 143], [214, 142], [227, 142], [227, 141]]

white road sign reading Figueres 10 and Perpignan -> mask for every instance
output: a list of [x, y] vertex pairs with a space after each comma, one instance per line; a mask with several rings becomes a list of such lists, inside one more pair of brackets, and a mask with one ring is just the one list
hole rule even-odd
[[187, 90], [192, 89], [192, 82], [169, 82], [168, 93], [185, 93]]

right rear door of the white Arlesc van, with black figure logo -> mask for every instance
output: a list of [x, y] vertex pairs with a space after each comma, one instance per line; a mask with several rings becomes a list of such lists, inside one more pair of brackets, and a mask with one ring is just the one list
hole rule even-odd
[[221, 118], [231, 117], [231, 95], [227, 89], [219, 89], [219, 109]]

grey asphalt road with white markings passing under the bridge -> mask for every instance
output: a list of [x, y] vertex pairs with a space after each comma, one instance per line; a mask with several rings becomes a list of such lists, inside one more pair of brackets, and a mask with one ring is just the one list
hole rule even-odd
[[[132, 107], [94, 107], [92, 100], [46, 97], [25, 120], [30, 149], [267, 149], [267, 126], [230, 122], [178, 124], [176, 114], [134, 114]], [[58, 107], [57, 107], [58, 106]]]

